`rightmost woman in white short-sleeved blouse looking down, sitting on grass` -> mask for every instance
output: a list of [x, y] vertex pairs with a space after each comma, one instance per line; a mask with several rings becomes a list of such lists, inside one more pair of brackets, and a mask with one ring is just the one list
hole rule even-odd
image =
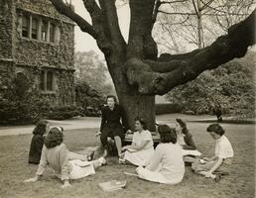
[[214, 174], [214, 171], [228, 171], [234, 151], [230, 142], [224, 136], [225, 131], [219, 124], [209, 125], [207, 127], [207, 132], [216, 141], [215, 153], [212, 157], [203, 157], [202, 159], [195, 160], [192, 163], [192, 169], [195, 173], [219, 181], [221, 175]]

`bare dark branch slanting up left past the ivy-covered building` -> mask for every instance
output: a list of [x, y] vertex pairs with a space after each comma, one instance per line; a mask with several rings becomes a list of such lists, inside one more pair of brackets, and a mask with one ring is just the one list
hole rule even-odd
[[80, 28], [82, 32], [88, 33], [91, 37], [93, 37], [95, 40], [97, 39], [97, 33], [93, 29], [93, 27], [82, 17], [75, 14], [70, 7], [66, 6], [63, 2], [63, 0], [50, 0], [52, 4], [55, 6], [55, 8], [60, 12], [61, 14], [65, 15], [69, 19], [71, 19], [73, 22], [77, 24], [77, 26]]

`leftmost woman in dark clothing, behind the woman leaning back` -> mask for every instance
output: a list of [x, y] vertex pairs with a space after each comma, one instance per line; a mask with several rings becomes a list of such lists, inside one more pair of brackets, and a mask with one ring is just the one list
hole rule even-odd
[[44, 135], [49, 131], [49, 122], [41, 120], [33, 130], [33, 138], [31, 140], [29, 163], [39, 164], [42, 148], [44, 146]]

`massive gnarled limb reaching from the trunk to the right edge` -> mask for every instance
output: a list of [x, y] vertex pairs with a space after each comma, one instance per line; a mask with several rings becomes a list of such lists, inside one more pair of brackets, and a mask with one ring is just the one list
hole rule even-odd
[[143, 62], [137, 58], [128, 60], [126, 74], [129, 83], [138, 86], [142, 94], [163, 95], [191, 81], [206, 69], [216, 68], [234, 57], [242, 57], [247, 48], [255, 44], [255, 12], [232, 26], [228, 35], [219, 37], [207, 48], [174, 55], [172, 58], [169, 56], [168, 62]]

